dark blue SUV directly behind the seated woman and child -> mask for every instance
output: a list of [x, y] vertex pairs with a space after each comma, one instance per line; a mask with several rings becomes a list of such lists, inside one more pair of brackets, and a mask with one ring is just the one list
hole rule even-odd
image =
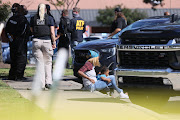
[[167, 16], [167, 17], [156, 16], [156, 17], [139, 20], [127, 26], [123, 30], [121, 30], [111, 39], [94, 40], [77, 45], [75, 47], [75, 58], [74, 58], [74, 69], [73, 69], [74, 75], [78, 77], [77, 71], [79, 70], [79, 68], [81, 68], [84, 65], [84, 63], [88, 59], [87, 55], [89, 55], [90, 50], [95, 51], [97, 54], [100, 55], [101, 64], [109, 66], [111, 70], [111, 74], [113, 74], [114, 72], [113, 70], [117, 65], [116, 46], [120, 45], [119, 36], [121, 36], [121, 34], [124, 31], [134, 30], [145, 26], [156, 26], [159, 24], [170, 23], [171, 21], [172, 21], [171, 16]]

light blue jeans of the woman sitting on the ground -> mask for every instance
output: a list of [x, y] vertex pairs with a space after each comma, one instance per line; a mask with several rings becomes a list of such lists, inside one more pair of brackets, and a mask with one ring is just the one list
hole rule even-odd
[[107, 76], [107, 78], [110, 78], [111, 79], [111, 82], [110, 83], [106, 83], [105, 81], [102, 81], [102, 80], [98, 80], [97, 82], [95, 82], [95, 89], [96, 90], [102, 90], [106, 87], [112, 87], [114, 88], [118, 93], [121, 93], [123, 92], [122, 89], [118, 88], [117, 85], [116, 85], [116, 80], [115, 80], [115, 76], [114, 75], [110, 75], [110, 76]]

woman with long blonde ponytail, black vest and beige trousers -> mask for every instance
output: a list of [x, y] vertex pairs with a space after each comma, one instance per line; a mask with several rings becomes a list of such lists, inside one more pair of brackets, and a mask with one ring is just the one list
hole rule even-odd
[[[41, 87], [50, 89], [52, 85], [52, 55], [56, 48], [54, 21], [46, 13], [46, 5], [40, 4], [38, 11], [30, 21], [33, 33], [33, 54], [37, 61]], [[51, 44], [52, 40], [52, 44]]]

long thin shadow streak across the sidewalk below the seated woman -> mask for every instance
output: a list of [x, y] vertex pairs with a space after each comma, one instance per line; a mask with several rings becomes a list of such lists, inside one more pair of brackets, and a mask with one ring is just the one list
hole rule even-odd
[[68, 99], [72, 101], [84, 101], [84, 102], [105, 102], [105, 103], [129, 103], [119, 98], [76, 98], [76, 99]]

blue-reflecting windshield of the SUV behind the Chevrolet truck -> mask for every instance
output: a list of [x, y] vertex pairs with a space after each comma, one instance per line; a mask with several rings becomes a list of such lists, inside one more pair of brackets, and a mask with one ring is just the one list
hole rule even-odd
[[[118, 39], [119, 35], [121, 35], [124, 31], [126, 30], [132, 30], [135, 28], [140, 28], [140, 27], [147, 27], [147, 26], [156, 26], [159, 24], [164, 24], [164, 23], [169, 23], [170, 21], [168, 21], [167, 19], [146, 19], [146, 20], [139, 20], [136, 21], [132, 24], [130, 24], [129, 26], [127, 26], [126, 28], [124, 28], [123, 30], [121, 30], [120, 32], [118, 32], [117, 34], [115, 34], [112, 39]], [[180, 23], [180, 20], [179, 20]]]

